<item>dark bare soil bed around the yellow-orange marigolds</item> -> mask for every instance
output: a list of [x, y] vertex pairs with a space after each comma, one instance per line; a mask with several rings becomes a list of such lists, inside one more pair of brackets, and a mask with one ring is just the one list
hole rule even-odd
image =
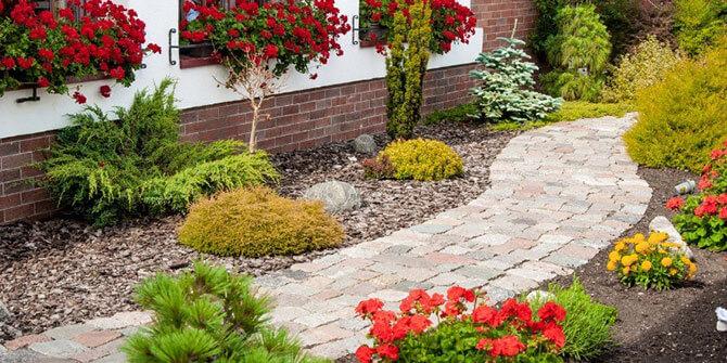
[[[672, 169], [640, 168], [639, 174], [653, 189], [643, 219], [624, 236], [645, 233], [656, 216], [671, 217], [664, 207], [674, 185], [697, 176]], [[692, 247], [700, 271], [693, 281], [672, 290], [627, 288], [615, 274], [607, 273], [609, 249], [575, 272], [597, 300], [618, 309], [613, 328], [618, 345], [598, 362], [725, 362], [727, 336], [715, 329], [714, 310], [727, 304], [727, 254]], [[556, 282], [567, 285], [572, 276]]]

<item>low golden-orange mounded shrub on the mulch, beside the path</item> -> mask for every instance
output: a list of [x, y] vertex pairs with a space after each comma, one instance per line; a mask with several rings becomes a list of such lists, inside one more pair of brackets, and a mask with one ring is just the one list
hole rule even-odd
[[267, 187], [202, 199], [179, 230], [181, 244], [219, 256], [297, 255], [339, 246], [343, 238], [322, 203], [284, 198]]

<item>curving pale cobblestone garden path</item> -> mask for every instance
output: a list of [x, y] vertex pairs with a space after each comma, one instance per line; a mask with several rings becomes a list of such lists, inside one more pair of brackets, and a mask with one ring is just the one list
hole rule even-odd
[[[570, 274], [638, 222], [651, 189], [621, 134], [634, 122], [604, 117], [514, 138], [472, 203], [386, 237], [257, 280], [278, 301], [276, 324], [319, 355], [339, 358], [364, 340], [354, 308], [378, 297], [396, 309], [414, 287], [482, 286], [493, 301]], [[122, 362], [117, 348], [145, 313], [120, 313], [10, 341], [0, 362]], [[21, 360], [22, 356], [29, 360]], [[49, 361], [50, 362], [50, 361]]]

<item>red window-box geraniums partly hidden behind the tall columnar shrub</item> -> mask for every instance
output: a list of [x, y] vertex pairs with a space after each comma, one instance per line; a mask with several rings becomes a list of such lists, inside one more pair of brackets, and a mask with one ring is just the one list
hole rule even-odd
[[[372, 25], [380, 25], [384, 28], [394, 27], [394, 17], [401, 4], [409, 7], [414, 0], [364, 0], [360, 2], [361, 27], [370, 29]], [[477, 18], [470, 8], [457, 2], [457, 0], [429, 0], [432, 8], [432, 39], [430, 40], [430, 51], [436, 54], [444, 54], [451, 50], [451, 44], [456, 41], [468, 43]], [[401, 10], [408, 22], [411, 17], [407, 9]], [[393, 31], [383, 35], [385, 39], [379, 39], [382, 35], [375, 31], [367, 31], [364, 39], [379, 44], [379, 50], [383, 51], [383, 46], [390, 42], [394, 37]]]

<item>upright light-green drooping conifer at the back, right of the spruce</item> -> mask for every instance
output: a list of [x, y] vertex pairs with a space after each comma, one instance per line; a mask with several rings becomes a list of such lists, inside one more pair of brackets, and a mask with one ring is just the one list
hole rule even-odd
[[565, 100], [597, 100], [603, 87], [611, 42], [596, 8], [564, 7], [558, 12], [556, 24], [558, 33], [547, 40], [548, 61], [559, 68], [549, 76], [552, 94]]

